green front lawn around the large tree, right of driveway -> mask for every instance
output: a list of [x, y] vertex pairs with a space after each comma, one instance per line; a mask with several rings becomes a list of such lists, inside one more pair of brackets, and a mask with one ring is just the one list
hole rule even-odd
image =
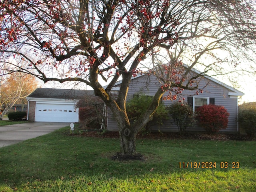
[[118, 138], [69, 129], [0, 148], [0, 191], [256, 191], [256, 141], [138, 139], [145, 161], [122, 162]]

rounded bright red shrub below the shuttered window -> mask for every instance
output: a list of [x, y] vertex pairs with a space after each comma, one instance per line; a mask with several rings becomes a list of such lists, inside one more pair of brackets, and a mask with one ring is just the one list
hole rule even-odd
[[218, 132], [228, 126], [229, 113], [224, 106], [204, 105], [196, 110], [198, 125], [208, 133]]

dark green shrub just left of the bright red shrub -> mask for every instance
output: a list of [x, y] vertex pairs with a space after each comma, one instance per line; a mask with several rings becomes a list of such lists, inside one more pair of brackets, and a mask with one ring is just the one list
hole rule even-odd
[[176, 102], [168, 107], [168, 111], [181, 135], [184, 134], [188, 126], [194, 124], [194, 112], [189, 105]]

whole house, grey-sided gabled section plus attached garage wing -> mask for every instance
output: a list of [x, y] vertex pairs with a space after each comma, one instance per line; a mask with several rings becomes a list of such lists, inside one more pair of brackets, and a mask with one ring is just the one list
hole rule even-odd
[[[193, 70], [199, 74], [200, 72]], [[112, 88], [112, 93], [117, 94], [121, 81], [116, 82]], [[224, 106], [230, 114], [228, 118], [228, 128], [221, 130], [223, 132], [238, 132], [237, 114], [238, 99], [244, 93], [228, 86], [214, 78], [204, 77], [198, 82], [199, 90], [203, 93], [196, 94], [196, 90], [184, 90], [182, 97], [185, 102], [190, 104], [195, 110], [202, 104], [215, 104]], [[205, 85], [207, 86], [205, 87]], [[148, 96], [154, 96], [159, 88], [159, 82], [155, 76], [141, 75], [132, 78], [128, 90], [127, 100], [134, 97], [135, 94], [143, 93]], [[28, 120], [42, 122], [78, 122], [78, 109], [76, 103], [85, 95], [94, 95], [93, 90], [69, 90], [69, 89], [51, 89], [38, 88], [27, 97], [28, 100]], [[165, 94], [164, 96], [167, 96]], [[166, 106], [172, 104], [170, 100], [162, 101]], [[110, 131], [117, 131], [117, 123], [113, 118], [110, 108], [107, 108], [106, 128]], [[153, 126], [152, 130], [162, 132], [178, 132], [177, 126], [172, 120], [167, 120], [161, 126]], [[201, 131], [202, 128], [188, 128], [188, 131]]]

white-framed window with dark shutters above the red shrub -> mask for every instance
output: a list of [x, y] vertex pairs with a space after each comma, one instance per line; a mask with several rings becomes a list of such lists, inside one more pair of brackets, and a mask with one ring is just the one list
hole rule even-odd
[[193, 111], [195, 111], [203, 105], [214, 105], [215, 99], [209, 97], [188, 97], [188, 104], [193, 108]]

